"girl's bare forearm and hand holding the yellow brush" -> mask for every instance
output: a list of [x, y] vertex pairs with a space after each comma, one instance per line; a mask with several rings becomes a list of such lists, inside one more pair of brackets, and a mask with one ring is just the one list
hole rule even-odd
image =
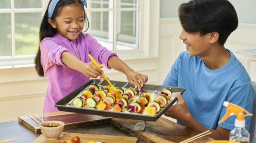
[[[103, 70], [98, 69], [92, 62], [85, 63], [70, 52], [63, 52], [61, 54], [61, 61], [68, 67], [77, 70], [90, 78], [96, 78], [103, 73]], [[100, 68], [102, 67], [103, 65], [100, 65]]]

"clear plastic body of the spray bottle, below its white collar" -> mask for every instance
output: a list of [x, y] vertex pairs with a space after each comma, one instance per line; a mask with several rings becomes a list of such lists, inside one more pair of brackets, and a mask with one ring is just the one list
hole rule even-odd
[[244, 128], [235, 127], [229, 133], [229, 141], [240, 142], [240, 143], [250, 143], [250, 134]]

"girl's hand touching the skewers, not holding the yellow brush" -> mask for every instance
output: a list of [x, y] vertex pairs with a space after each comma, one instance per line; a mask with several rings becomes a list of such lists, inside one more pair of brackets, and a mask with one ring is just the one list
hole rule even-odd
[[139, 91], [141, 90], [141, 87], [143, 87], [144, 83], [146, 83], [148, 80], [146, 75], [142, 75], [134, 71], [126, 74], [126, 77], [132, 85], [137, 86]]

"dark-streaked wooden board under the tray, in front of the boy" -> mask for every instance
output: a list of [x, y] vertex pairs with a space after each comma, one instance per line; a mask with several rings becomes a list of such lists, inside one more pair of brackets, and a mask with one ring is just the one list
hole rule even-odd
[[[134, 126], [138, 123], [138, 120], [114, 118], [111, 119], [111, 124], [119, 129], [130, 133], [134, 137], [138, 137], [139, 140], [146, 143], [173, 143], [181, 142], [198, 133], [193, 132], [189, 128], [185, 128], [179, 124], [176, 124], [168, 119], [160, 117], [158, 120], [146, 121], [146, 127], [144, 131], [134, 131]], [[198, 138], [191, 143], [214, 141], [212, 138], [204, 136]]]

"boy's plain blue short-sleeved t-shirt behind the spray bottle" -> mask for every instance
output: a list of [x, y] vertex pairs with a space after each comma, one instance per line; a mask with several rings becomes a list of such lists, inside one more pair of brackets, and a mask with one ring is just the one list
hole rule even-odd
[[[236, 116], [218, 124], [226, 113], [224, 101], [252, 112], [254, 92], [251, 79], [241, 62], [231, 51], [229, 53], [231, 57], [223, 67], [211, 70], [201, 57], [190, 56], [188, 51], [183, 51], [163, 82], [167, 86], [184, 87], [186, 90], [182, 96], [192, 117], [210, 129], [217, 126], [229, 130], [235, 128]], [[249, 131], [251, 116], [245, 119]]]

